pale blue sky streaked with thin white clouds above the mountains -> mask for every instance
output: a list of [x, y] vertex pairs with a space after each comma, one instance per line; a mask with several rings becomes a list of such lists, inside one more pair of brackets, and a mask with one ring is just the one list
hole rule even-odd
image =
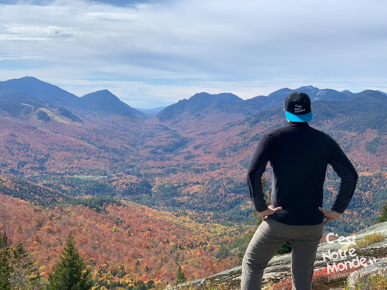
[[385, 0], [0, 0], [0, 80], [132, 107], [197, 92], [387, 91]]

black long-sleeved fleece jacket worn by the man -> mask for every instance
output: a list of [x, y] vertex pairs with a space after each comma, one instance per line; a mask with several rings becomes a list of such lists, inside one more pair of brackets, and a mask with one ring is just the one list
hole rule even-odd
[[257, 212], [267, 209], [262, 174], [272, 167], [271, 203], [282, 210], [270, 218], [287, 225], [318, 225], [324, 214], [323, 186], [327, 165], [341, 178], [332, 210], [343, 213], [353, 196], [358, 174], [340, 146], [329, 135], [302, 122], [267, 131], [247, 169], [247, 186]]

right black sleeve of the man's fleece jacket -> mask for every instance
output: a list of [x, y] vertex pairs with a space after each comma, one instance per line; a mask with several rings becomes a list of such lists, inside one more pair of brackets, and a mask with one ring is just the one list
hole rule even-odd
[[351, 161], [349, 161], [348, 157], [341, 150], [339, 144], [334, 140], [333, 142], [334, 147], [328, 164], [332, 166], [333, 170], [340, 177], [341, 182], [339, 193], [337, 194], [335, 203], [331, 209], [335, 212], [343, 213], [348, 207], [355, 191], [358, 174]]

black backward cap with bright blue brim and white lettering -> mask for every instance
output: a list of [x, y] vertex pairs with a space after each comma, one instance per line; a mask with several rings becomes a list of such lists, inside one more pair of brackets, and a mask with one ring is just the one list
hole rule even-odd
[[285, 99], [286, 119], [293, 122], [309, 122], [312, 120], [310, 98], [303, 92], [292, 92]]

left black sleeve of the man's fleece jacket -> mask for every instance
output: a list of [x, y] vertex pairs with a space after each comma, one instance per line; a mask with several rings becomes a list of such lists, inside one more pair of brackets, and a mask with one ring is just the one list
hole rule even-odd
[[267, 209], [265, 196], [262, 190], [262, 174], [271, 157], [271, 147], [266, 134], [259, 140], [257, 148], [247, 169], [247, 187], [250, 198], [257, 212]]

